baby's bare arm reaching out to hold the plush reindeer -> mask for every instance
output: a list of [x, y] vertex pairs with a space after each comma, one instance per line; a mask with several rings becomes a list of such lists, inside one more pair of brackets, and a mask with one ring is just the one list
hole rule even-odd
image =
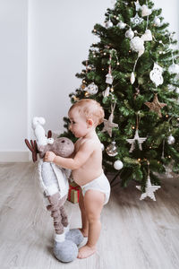
[[88, 141], [81, 144], [74, 158], [63, 158], [56, 156], [53, 152], [47, 152], [44, 161], [52, 161], [65, 169], [79, 169], [90, 158], [93, 151], [94, 143]]

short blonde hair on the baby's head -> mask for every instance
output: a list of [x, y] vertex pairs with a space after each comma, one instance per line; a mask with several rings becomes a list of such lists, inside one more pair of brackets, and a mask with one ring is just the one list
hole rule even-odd
[[86, 118], [91, 117], [96, 126], [100, 125], [104, 121], [104, 110], [96, 100], [81, 99], [72, 105], [68, 113], [72, 111], [73, 108], [78, 108], [78, 111], [85, 115]]

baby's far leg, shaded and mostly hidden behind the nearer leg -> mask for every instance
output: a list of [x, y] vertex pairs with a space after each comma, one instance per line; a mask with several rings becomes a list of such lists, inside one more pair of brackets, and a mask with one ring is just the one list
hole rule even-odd
[[82, 195], [82, 191], [80, 191], [79, 206], [81, 209], [81, 222], [82, 222], [82, 228], [80, 230], [81, 230], [83, 237], [88, 237], [89, 221], [87, 219], [87, 215], [86, 215], [85, 208], [84, 208], [84, 198]]

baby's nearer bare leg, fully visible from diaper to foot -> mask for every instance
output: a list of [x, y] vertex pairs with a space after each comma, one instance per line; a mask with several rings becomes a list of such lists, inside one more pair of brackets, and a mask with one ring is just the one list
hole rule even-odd
[[84, 195], [84, 208], [89, 221], [89, 239], [79, 249], [79, 258], [91, 256], [96, 251], [96, 244], [101, 230], [100, 213], [105, 202], [105, 194], [90, 189]]

